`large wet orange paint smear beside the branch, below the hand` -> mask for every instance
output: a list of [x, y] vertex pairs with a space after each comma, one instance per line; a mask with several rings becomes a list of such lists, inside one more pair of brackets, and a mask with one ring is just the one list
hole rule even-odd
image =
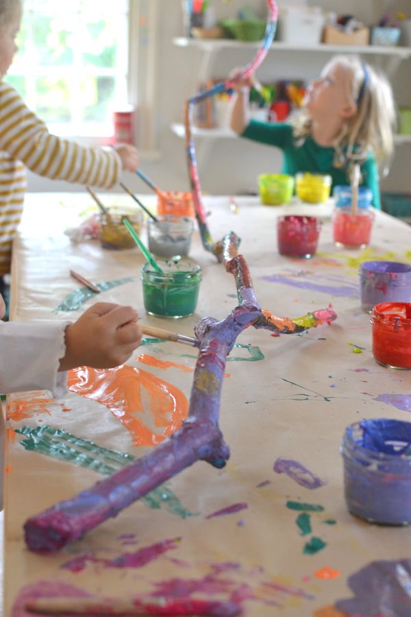
[[129, 365], [108, 370], [81, 367], [69, 372], [67, 385], [72, 392], [110, 409], [136, 446], [160, 444], [188, 414], [188, 400], [180, 389]]

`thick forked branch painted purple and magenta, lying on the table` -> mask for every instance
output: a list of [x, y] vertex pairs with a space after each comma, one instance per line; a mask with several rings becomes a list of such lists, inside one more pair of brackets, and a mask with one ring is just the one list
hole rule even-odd
[[[235, 234], [227, 234], [222, 245], [225, 269], [236, 280], [238, 306], [221, 321], [205, 317], [195, 326], [201, 345], [188, 418], [174, 435], [147, 455], [90, 489], [29, 518], [24, 526], [25, 541], [32, 551], [51, 553], [79, 540], [87, 531], [116, 516], [195, 461], [224, 467], [229, 447], [219, 428], [219, 408], [225, 363], [236, 338], [251, 325], [277, 334], [301, 332], [306, 328], [298, 325], [298, 320], [266, 317], [256, 300], [247, 262], [237, 254]], [[310, 313], [315, 325], [336, 317], [329, 309], [318, 313], [322, 313], [322, 317]]]

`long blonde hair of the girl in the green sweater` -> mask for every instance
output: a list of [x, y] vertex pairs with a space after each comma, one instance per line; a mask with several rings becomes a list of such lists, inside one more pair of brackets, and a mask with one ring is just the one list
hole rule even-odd
[[[393, 90], [386, 76], [358, 56], [334, 56], [327, 66], [339, 64], [349, 74], [349, 102], [356, 112], [348, 118], [336, 136], [334, 147], [335, 167], [366, 159], [371, 150], [377, 162], [388, 161], [394, 151], [396, 125]], [[311, 133], [311, 119], [301, 110], [291, 123], [296, 138], [306, 138]]]

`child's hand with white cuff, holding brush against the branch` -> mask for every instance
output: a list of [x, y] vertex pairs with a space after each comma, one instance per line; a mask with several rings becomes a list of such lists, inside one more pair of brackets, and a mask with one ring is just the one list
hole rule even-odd
[[140, 345], [138, 313], [131, 306], [98, 302], [67, 326], [60, 371], [78, 366], [110, 368], [123, 364]]

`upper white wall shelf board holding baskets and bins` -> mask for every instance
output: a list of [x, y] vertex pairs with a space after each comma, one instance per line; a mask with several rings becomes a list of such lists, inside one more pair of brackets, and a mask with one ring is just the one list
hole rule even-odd
[[[231, 38], [185, 38], [177, 36], [173, 38], [174, 45], [177, 47], [192, 47], [201, 51], [218, 51], [219, 49], [258, 49], [260, 41], [249, 43], [243, 40]], [[295, 45], [290, 43], [282, 43], [282, 41], [274, 41], [271, 45], [271, 50], [277, 51], [310, 51], [319, 53], [364, 53], [372, 56], [397, 56], [403, 60], [411, 58], [411, 47], [401, 47], [394, 45], [385, 47], [382, 45], [327, 45], [319, 43], [319, 45]]]

